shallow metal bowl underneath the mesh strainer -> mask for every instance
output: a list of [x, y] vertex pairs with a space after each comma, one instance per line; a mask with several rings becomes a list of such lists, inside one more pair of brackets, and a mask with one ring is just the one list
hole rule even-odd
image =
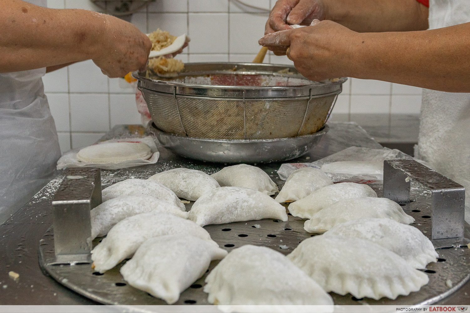
[[180, 156], [219, 163], [269, 163], [298, 158], [318, 144], [328, 125], [311, 135], [277, 139], [209, 139], [185, 137], [158, 130], [147, 131], [168, 150]]

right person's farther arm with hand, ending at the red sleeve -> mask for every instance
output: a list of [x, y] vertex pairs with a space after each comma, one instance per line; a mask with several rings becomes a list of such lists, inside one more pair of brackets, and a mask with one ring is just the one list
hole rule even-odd
[[428, 8], [417, 0], [279, 0], [265, 34], [330, 20], [358, 32], [420, 31], [428, 28]]

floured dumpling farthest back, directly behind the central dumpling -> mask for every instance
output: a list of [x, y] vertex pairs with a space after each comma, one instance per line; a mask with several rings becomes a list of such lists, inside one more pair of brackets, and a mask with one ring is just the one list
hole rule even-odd
[[266, 193], [268, 196], [278, 192], [277, 185], [261, 168], [248, 164], [227, 166], [211, 175], [221, 187], [245, 187]]

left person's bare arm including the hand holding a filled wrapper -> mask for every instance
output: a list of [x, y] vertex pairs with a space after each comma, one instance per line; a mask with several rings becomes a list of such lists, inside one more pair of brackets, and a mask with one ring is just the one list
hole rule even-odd
[[149, 38], [131, 23], [79, 9], [49, 9], [22, 0], [0, 4], [0, 72], [93, 60], [110, 77], [143, 69]]

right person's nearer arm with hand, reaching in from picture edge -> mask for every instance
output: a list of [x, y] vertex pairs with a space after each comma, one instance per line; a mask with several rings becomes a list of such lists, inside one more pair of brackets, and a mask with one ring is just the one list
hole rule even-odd
[[445, 92], [470, 92], [470, 23], [427, 31], [359, 33], [332, 21], [267, 34], [263, 46], [290, 46], [312, 80], [377, 79]]

